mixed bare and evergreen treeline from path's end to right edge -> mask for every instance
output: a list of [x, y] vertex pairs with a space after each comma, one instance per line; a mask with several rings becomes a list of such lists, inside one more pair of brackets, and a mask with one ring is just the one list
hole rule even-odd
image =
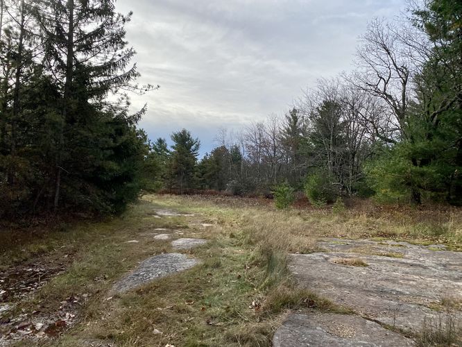
[[461, 1], [433, 0], [405, 19], [370, 22], [353, 72], [320, 80], [284, 117], [221, 131], [200, 161], [187, 130], [173, 134], [171, 151], [158, 139], [145, 176], [178, 192], [266, 195], [283, 185], [314, 203], [374, 195], [461, 205], [461, 18]]

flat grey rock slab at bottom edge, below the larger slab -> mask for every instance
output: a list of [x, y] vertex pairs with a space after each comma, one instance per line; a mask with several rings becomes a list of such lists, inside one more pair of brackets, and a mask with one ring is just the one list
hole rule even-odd
[[291, 314], [273, 337], [274, 347], [414, 346], [413, 341], [359, 316]]

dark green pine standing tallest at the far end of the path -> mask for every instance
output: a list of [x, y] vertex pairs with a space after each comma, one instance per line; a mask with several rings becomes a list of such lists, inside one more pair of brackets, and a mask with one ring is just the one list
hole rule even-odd
[[171, 151], [171, 178], [175, 180], [180, 189], [191, 188], [193, 185], [194, 171], [200, 142], [194, 139], [188, 130], [182, 129], [171, 135], [173, 141]]

